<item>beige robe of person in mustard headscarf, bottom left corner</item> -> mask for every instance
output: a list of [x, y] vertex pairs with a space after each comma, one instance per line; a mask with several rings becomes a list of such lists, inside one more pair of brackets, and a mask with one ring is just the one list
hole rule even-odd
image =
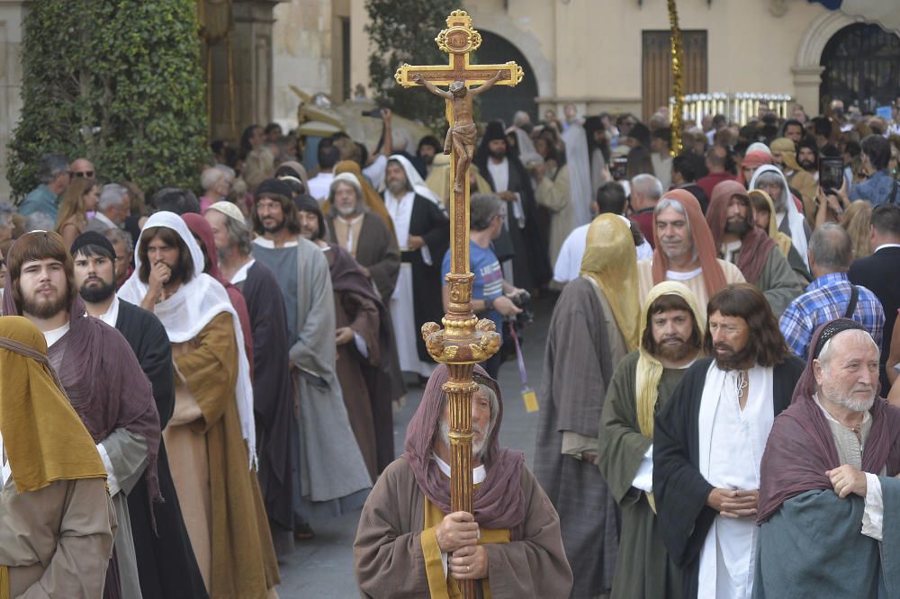
[[0, 566], [13, 597], [100, 599], [112, 556], [115, 514], [103, 478], [0, 490]]

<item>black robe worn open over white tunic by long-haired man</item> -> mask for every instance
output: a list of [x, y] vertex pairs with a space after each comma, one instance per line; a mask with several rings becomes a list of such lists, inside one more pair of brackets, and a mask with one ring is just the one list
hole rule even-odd
[[[684, 597], [698, 593], [700, 550], [716, 519], [707, 505], [713, 486], [700, 474], [699, 414], [703, 387], [712, 358], [694, 362], [672, 397], [656, 415], [653, 428], [653, 495], [662, 540], [675, 565], [684, 571]], [[800, 374], [806, 368], [790, 354], [775, 366], [772, 406], [775, 416], [790, 406]]]

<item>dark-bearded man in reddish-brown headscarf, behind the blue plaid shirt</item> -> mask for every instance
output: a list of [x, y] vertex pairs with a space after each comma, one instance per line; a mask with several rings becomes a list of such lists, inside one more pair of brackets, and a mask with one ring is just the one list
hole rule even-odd
[[707, 223], [718, 255], [737, 265], [756, 285], [776, 317], [803, 293], [797, 276], [775, 242], [753, 221], [750, 195], [741, 183], [723, 181], [713, 188]]

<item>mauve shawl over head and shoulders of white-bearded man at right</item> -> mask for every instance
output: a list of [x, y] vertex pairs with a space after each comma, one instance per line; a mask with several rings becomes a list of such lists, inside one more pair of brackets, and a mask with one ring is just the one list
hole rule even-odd
[[[810, 347], [815, 347], [824, 327], [833, 322], [816, 329]], [[825, 472], [842, 465], [831, 427], [813, 399], [816, 391], [813, 360], [810, 352], [806, 369], [794, 390], [793, 403], [775, 418], [762, 454], [759, 524], [769, 520], [788, 499], [806, 491], [833, 488]], [[863, 449], [862, 469], [878, 473], [887, 467], [887, 475], [896, 476], [900, 472], [900, 408], [891, 406], [884, 398], [876, 398], [870, 412], [872, 429]]]

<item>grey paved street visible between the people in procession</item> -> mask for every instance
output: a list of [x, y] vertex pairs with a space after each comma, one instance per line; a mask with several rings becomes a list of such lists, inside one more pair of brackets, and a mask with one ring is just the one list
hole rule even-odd
[[[528, 383], [540, 388], [547, 325], [552, 311], [550, 299], [536, 302], [535, 322], [526, 331], [522, 347]], [[506, 362], [500, 369], [503, 392], [503, 425], [500, 443], [525, 451], [526, 464], [534, 462], [537, 413], [528, 414], [521, 398], [522, 383], [516, 362]], [[410, 389], [406, 405], [394, 415], [394, 447], [403, 451], [406, 426], [419, 407], [422, 390]], [[316, 538], [298, 543], [297, 550], [281, 565], [282, 584], [279, 595], [291, 599], [352, 599], [359, 596], [353, 575], [352, 545], [359, 512], [333, 520], [313, 523]]]

